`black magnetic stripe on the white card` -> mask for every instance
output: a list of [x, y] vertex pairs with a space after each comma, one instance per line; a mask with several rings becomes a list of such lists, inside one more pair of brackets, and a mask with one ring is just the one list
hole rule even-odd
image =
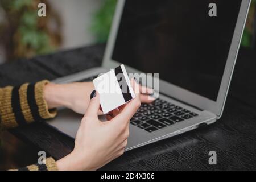
[[115, 68], [115, 76], [117, 77], [117, 81], [118, 81], [118, 84], [119, 84], [120, 89], [122, 91], [123, 98], [125, 99], [125, 102], [128, 102], [128, 101], [132, 100], [133, 97], [131, 96], [131, 93], [130, 93], [128, 84], [125, 80], [125, 75], [123, 75], [123, 71], [122, 71], [121, 66]]

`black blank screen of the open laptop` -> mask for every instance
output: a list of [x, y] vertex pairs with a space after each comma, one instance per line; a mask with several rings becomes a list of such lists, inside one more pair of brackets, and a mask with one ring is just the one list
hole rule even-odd
[[241, 0], [126, 1], [112, 59], [216, 101], [240, 6]]

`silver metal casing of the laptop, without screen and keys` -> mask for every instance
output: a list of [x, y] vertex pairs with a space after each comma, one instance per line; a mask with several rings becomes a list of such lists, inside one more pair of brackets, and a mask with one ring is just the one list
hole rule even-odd
[[[129, 1], [129, 3], [132, 3], [132, 2], [134, 1]], [[172, 2], [175, 2], [175, 1], [172, 1]], [[177, 2], [180, 2], [180, 1], [177, 1]], [[223, 72], [223, 75], [221, 76], [222, 78], [220, 81], [220, 86], [218, 88], [218, 93], [216, 95], [216, 100], [201, 96], [200, 94], [195, 92], [191, 92], [188, 89], [182, 88], [182, 86], [177, 86], [175, 84], [172, 84], [171, 82], [166, 81], [166, 79], [162, 80], [161, 73], [159, 73], [159, 90], [157, 90], [159, 92], [159, 99], [163, 101], [165, 104], [168, 103], [170, 105], [175, 105], [175, 107], [182, 108], [181, 111], [187, 110], [189, 111], [189, 113], [193, 113], [195, 116], [189, 119], [184, 119], [184, 121], [174, 122], [174, 124], [170, 126], [164, 124], [163, 122], [159, 122], [165, 127], [163, 128], [156, 127], [158, 128], [158, 130], [152, 131], [152, 132], [148, 132], [145, 129], [138, 127], [138, 125], [131, 124], [130, 137], [128, 139], [126, 151], [131, 150], [133, 148], [144, 146], [152, 142], [157, 142], [159, 140], [166, 139], [168, 137], [172, 137], [174, 135], [178, 135], [186, 131], [196, 129], [202, 124], [210, 125], [216, 122], [217, 119], [221, 117], [224, 109], [224, 105], [225, 105], [226, 96], [228, 94], [229, 84], [232, 78], [232, 73], [233, 73], [235, 62], [236, 62], [238, 49], [240, 47], [241, 37], [243, 34], [243, 29], [245, 27], [247, 13], [249, 11], [249, 6], [250, 6], [249, 0], [241, 0], [236, 2], [238, 6], [236, 23], [234, 23], [232, 39], [230, 39], [230, 46], [228, 48], [228, 54], [225, 60], [224, 72]], [[113, 52], [115, 49], [115, 43], [117, 42], [117, 39], [118, 39], [118, 30], [123, 21], [122, 15], [124, 11], [130, 10], [130, 9], [126, 10], [126, 6], [131, 6], [129, 5], [129, 3], [126, 2], [125, 0], [118, 1], [114, 20], [113, 20], [112, 30], [110, 32], [102, 67], [97, 67], [97, 68], [89, 69], [80, 73], [76, 73], [74, 75], [58, 78], [56, 80], [53, 80], [53, 82], [67, 83], [67, 82], [76, 82], [76, 81], [87, 81], [87, 80], [89, 81], [90, 78], [95, 77], [100, 73], [108, 72], [111, 68], [118, 67], [118, 65], [120, 64], [125, 64], [125, 63], [122, 63], [122, 61], [113, 60]], [[155, 1], [155, 3], [159, 3], [159, 1]], [[136, 5], [137, 9], [138, 7], [139, 6]], [[208, 6], [206, 8], [208, 9]], [[187, 31], [190, 31], [190, 30], [187, 30]], [[184, 50], [184, 53], [185, 52], [186, 50]], [[157, 64], [157, 62], [155, 64]], [[139, 70], [138, 68], [134, 68], [133, 66], [127, 65], [127, 64], [125, 65], [126, 65], [127, 72], [129, 73], [143, 73], [143, 71]], [[201, 87], [204, 88], [203, 83]], [[147, 106], [145, 106], [144, 109], [147, 110]], [[171, 114], [174, 115], [174, 113], [171, 113]], [[185, 114], [186, 113], [184, 113], [184, 115]], [[179, 115], [178, 117], [182, 118], [182, 115]], [[75, 114], [71, 110], [61, 108], [59, 109], [59, 113], [57, 117], [55, 119], [48, 121], [47, 123], [48, 125], [55, 127], [60, 132], [67, 134], [72, 138], [75, 138], [77, 129], [79, 128], [79, 125], [80, 125], [81, 118], [82, 118], [82, 115]], [[144, 121], [143, 123], [145, 122], [146, 121]]]

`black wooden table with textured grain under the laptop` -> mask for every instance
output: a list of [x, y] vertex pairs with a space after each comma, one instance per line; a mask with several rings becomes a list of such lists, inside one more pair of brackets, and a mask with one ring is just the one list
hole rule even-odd
[[[0, 86], [19, 85], [76, 73], [100, 65], [104, 45], [21, 59], [0, 65]], [[44, 123], [11, 133], [60, 159], [72, 151], [74, 140]], [[208, 152], [217, 152], [210, 166]], [[241, 49], [222, 118], [213, 125], [126, 152], [106, 170], [256, 169], [256, 55]]]

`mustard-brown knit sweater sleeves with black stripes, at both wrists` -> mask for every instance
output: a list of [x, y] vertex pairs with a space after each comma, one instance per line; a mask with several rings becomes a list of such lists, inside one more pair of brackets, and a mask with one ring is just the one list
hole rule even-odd
[[[6, 86], [0, 88], [0, 127], [10, 129], [26, 125], [34, 121], [54, 118], [56, 110], [48, 110], [43, 97], [47, 80], [35, 84]], [[52, 158], [46, 159], [46, 164], [34, 164], [17, 170], [57, 170]]]

